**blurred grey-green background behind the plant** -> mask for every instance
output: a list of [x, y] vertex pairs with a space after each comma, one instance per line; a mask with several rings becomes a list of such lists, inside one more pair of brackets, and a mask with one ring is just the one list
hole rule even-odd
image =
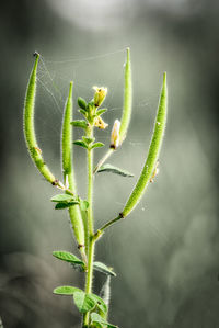
[[[107, 230], [96, 260], [114, 268], [111, 321], [120, 328], [219, 327], [218, 89], [219, 2], [195, 0], [3, 1], [0, 12], [0, 317], [11, 327], [80, 327], [57, 285], [83, 286], [83, 274], [53, 258], [77, 255], [66, 212], [34, 168], [22, 131], [32, 54], [42, 54], [36, 132], [44, 157], [61, 178], [61, 115], [69, 80], [91, 99], [106, 86], [96, 132], [108, 144], [123, 105], [125, 49], [131, 48], [134, 114], [123, 147], [108, 162], [135, 178], [95, 179], [95, 226], [123, 210], [148, 150], [162, 72], [168, 71], [169, 118], [160, 173], [127, 220]], [[74, 138], [80, 132], [74, 133]], [[95, 151], [95, 161], [105, 152]], [[74, 150], [79, 193], [85, 196], [85, 155]], [[94, 291], [104, 278], [96, 273]]]

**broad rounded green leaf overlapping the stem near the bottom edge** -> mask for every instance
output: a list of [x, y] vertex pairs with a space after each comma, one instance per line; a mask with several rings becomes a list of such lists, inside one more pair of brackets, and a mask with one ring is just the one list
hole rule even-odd
[[87, 294], [82, 291], [73, 293], [73, 301], [80, 313], [87, 313], [96, 305], [96, 301], [92, 294]]

